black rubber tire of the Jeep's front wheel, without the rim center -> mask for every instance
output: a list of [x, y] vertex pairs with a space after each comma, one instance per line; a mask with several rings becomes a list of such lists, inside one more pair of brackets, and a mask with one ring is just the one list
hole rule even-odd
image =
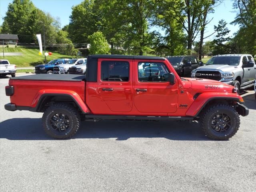
[[[213, 118], [220, 113], [226, 114], [232, 122], [232, 126], [230, 126], [224, 132], [217, 132], [216, 130], [214, 130], [214, 126], [212, 125], [212, 123], [214, 122]], [[206, 134], [206, 136], [208, 136], [208, 138], [214, 140], [228, 140], [238, 131], [238, 128], [240, 126], [240, 118], [238, 112], [236, 112], [236, 110], [232, 106], [228, 104], [217, 104], [208, 106], [201, 113], [200, 124], [203, 132]]]

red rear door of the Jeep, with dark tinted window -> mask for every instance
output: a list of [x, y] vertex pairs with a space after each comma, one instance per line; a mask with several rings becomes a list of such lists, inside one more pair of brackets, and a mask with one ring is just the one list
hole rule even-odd
[[132, 110], [132, 60], [98, 59], [97, 92], [102, 114]]

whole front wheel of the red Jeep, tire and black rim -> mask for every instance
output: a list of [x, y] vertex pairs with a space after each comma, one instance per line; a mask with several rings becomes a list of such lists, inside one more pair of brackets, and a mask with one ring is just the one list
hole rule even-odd
[[209, 106], [202, 112], [201, 128], [210, 139], [228, 140], [236, 134], [239, 126], [238, 113], [227, 104]]

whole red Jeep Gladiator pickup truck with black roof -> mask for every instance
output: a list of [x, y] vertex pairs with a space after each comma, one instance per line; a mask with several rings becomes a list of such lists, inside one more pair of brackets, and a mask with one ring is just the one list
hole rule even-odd
[[236, 89], [214, 80], [180, 78], [161, 57], [91, 55], [85, 75], [38, 74], [11, 78], [6, 110], [44, 112], [53, 138], [70, 138], [81, 120], [196, 120], [205, 134], [236, 134], [248, 108]]

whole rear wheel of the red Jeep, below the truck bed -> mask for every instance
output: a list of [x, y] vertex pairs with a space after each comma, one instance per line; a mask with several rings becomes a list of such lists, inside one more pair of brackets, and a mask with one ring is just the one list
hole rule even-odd
[[42, 125], [52, 138], [71, 138], [80, 127], [80, 115], [72, 105], [56, 103], [45, 110]]

